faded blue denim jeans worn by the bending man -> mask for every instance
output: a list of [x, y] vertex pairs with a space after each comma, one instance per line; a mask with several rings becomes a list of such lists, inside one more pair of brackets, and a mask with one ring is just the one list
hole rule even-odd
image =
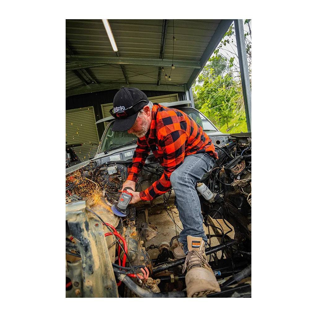
[[207, 236], [203, 227], [203, 216], [200, 208], [198, 193], [195, 189], [197, 182], [215, 164], [215, 159], [206, 153], [191, 154], [171, 173], [170, 181], [175, 192], [179, 219], [183, 230], [178, 241], [184, 245], [184, 253], [188, 253], [187, 236], [203, 238], [207, 245]]

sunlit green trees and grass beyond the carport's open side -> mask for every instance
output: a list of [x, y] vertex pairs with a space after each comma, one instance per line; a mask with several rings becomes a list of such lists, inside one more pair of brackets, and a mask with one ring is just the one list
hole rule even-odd
[[[245, 21], [245, 24], [249, 21]], [[250, 31], [251, 32], [251, 31]], [[245, 33], [249, 36], [249, 32]], [[235, 65], [234, 56], [230, 59], [219, 53], [219, 49], [233, 42], [235, 28], [232, 24], [223, 36], [214, 55], [210, 57], [203, 71], [198, 75], [193, 85], [195, 107], [204, 113], [218, 128], [233, 132], [247, 132], [241, 75], [236, 74], [238, 66]], [[229, 45], [230, 46], [230, 45]], [[251, 43], [246, 39], [247, 54], [251, 54]], [[237, 78], [238, 77], [238, 78]], [[235, 131], [235, 130], [239, 131]]]

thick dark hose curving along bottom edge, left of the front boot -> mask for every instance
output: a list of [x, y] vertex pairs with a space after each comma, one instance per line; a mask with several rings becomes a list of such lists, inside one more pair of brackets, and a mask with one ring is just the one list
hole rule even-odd
[[153, 298], [153, 299], [159, 299], [159, 298], [170, 298], [174, 299], [177, 297], [186, 297], [184, 292], [167, 292], [167, 293], [152, 293], [148, 290], [141, 288], [139, 285], [135, 284], [130, 277], [116, 273], [116, 276], [120, 281], [126, 284], [126, 286], [133, 291], [133, 293], [137, 294], [140, 297], [146, 297], [146, 298]]

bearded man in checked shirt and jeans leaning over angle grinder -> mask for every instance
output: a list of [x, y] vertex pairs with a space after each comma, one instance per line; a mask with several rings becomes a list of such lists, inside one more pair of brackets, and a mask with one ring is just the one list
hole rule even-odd
[[[133, 197], [130, 204], [152, 200], [173, 188], [183, 224], [175, 258], [186, 256], [183, 273], [188, 297], [201, 297], [220, 292], [216, 277], [205, 255], [207, 236], [204, 232], [196, 183], [210, 171], [217, 159], [211, 140], [185, 113], [159, 104], [152, 104], [141, 90], [122, 87], [113, 99], [113, 131], [127, 131], [138, 137], [137, 148], [128, 177]], [[164, 167], [162, 177], [145, 191], [136, 192], [138, 174], [152, 150]]]

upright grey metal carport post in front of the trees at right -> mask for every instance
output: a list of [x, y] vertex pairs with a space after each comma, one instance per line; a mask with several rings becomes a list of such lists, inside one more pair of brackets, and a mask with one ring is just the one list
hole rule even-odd
[[244, 29], [242, 19], [235, 19], [236, 41], [238, 48], [239, 66], [243, 90], [244, 109], [247, 119], [248, 132], [252, 132], [252, 98], [247, 63], [247, 51], [244, 44]]

